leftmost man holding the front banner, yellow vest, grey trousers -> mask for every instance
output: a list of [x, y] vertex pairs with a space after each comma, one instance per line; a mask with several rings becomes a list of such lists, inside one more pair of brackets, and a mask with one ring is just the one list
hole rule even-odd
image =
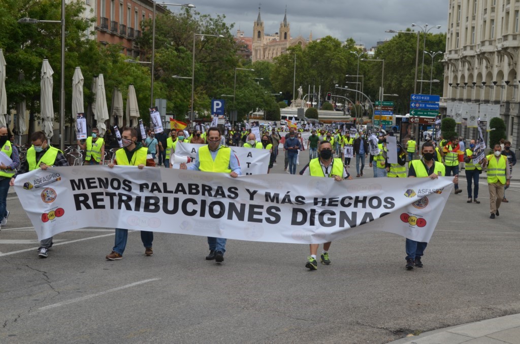
[[[43, 131], [36, 131], [31, 136], [32, 146], [27, 150], [26, 160], [20, 164], [20, 168], [16, 171], [15, 175], [12, 176], [9, 182], [10, 186], [15, 185], [15, 178], [18, 175], [27, 173], [29, 171], [41, 168], [46, 170], [51, 166], [69, 166], [67, 159], [63, 153], [54, 147], [51, 147], [47, 143], [47, 138]], [[40, 247], [38, 247], [38, 256], [41, 258], [47, 258], [49, 248], [53, 246], [53, 238], [49, 237], [40, 241]]]

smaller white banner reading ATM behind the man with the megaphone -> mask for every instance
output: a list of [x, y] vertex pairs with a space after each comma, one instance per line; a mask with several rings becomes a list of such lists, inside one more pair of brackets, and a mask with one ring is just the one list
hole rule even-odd
[[[204, 144], [178, 142], [175, 154], [180, 156], [197, 157], [199, 148]], [[237, 155], [240, 169], [243, 176], [267, 174], [271, 153], [265, 149], [230, 147], [231, 151]], [[187, 164], [188, 166], [190, 164]], [[173, 166], [178, 168], [178, 166]]]

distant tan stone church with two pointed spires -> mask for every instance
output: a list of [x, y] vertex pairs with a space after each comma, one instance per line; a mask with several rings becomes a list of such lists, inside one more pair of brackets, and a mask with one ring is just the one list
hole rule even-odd
[[[309, 42], [312, 39], [311, 33]], [[287, 21], [287, 9], [283, 21], [280, 23], [280, 30], [274, 34], [266, 34], [264, 22], [260, 17], [260, 8], [258, 8], [258, 18], [253, 23], [252, 61], [272, 61], [275, 57], [285, 54], [287, 48], [295, 45], [304, 47], [307, 45], [307, 40], [302, 36], [291, 37], [291, 25]]]

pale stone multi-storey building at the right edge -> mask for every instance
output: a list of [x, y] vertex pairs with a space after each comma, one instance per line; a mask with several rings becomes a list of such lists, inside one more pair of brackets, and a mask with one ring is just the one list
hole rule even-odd
[[444, 63], [444, 100], [500, 105], [506, 135], [518, 147], [520, 2], [450, 0]]

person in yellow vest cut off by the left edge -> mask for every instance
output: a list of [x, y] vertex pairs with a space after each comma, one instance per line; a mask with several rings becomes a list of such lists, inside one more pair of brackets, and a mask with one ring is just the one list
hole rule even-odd
[[[11, 163], [5, 165], [0, 163], [0, 226], [6, 226], [9, 210], [7, 210], [7, 194], [9, 193], [9, 182], [15, 175], [16, 169], [20, 165], [18, 150], [12, 147], [9, 141], [7, 128], [0, 126], [0, 151], [10, 158]], [[7, 163], [7, 162], [6, 162]]]

